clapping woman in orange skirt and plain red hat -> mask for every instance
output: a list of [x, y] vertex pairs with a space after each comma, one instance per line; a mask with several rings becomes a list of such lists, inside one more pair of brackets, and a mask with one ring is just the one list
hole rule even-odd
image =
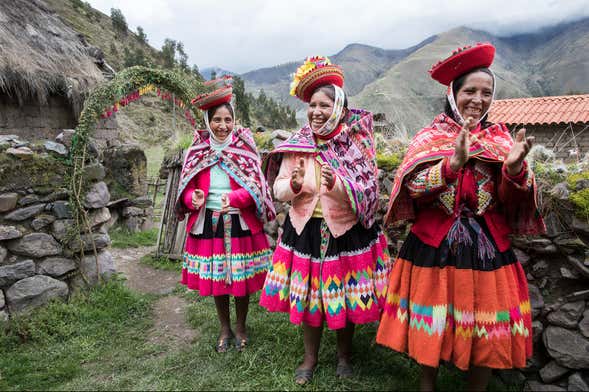
[[495, 47], [477, 44], [434, 65], [448, 86], [444, 113], [412, 139], [386, 223], [413, 221], [390, 275], [377, 342], [422, 365], [434, 388], [440, 361], [469, 370], [484, 389], [491, 369], [523, 368], [532, 351], [526, 276], [508, 234], [538, 234], [533, 138], [515, 140], [487, 113], [496, 89]]

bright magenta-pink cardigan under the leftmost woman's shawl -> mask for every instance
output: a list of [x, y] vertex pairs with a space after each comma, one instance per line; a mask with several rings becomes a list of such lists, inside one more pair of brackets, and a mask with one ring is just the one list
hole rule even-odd
[[[229, 184], [231, 186], [231, 192], [229, 193], [229, 205], [231, 207], [239, 208], [241, 217], [249, 227], [252, 234], [259, 233], [264, 228], [263, 223], [256, 217], [256, 207], [254, 200], [247, 192], [243, 189], [233, 178], [229, 177]], [[204, 192], [205, 200], [209, 193], [211, 186], [211, 169], [207, 168], [198, 173], [194, 178], [186, 185], [184, 192], [182, 192], [182, 201], [184, 205], [191, 211], [188, 216], [188, 222], [186, 224], [186, 231], [190, 233], [194, 222], [198, 218], [199, 209], [195, 209], [192, 205], [192, 194], [196, 189], [200, 189]], [[201, 208], [206, 208], [203, 205]]]

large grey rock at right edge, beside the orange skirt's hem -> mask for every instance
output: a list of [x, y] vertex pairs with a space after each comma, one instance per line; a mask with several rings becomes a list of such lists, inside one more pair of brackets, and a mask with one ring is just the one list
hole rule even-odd
[[571, 369], [589, 367], [589, 340], [578, 332], [561, 327], [549, 326], [543, 335], [548, 354], [559, 365]]

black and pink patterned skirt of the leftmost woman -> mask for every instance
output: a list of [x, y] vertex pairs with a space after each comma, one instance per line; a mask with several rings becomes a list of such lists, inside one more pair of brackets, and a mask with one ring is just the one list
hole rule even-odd
[[206, 210], [203, 233], [186, 238], [180, 283], [202, 296], [242, 297], [263, 287], [271, 258], [264, 232], [243, 230], [237, 214]]

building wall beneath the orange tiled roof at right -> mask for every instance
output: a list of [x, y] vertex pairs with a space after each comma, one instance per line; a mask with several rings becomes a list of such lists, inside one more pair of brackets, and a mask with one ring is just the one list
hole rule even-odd
[[[589, 130], [582, 132], [587, 125], [589, 124], [574, 124], [572, 129], [567, 130], [564, 135], [563, 131], [567, 129], [568, 124], [550, 126], [530, 125], [526, 126], [526, 134], [528, 136], [534, 136], [536, 138], [536, 144], [541, 144], [554, 150], [557, 159], [570, 162], [576, 160], [575, 156], [569, 154], [569, 150], [575, 147], [575, 143], [579, 148], [579, 159], [589, 153]], [[511, 129], [512, 127], [510, 126], [509, 128]], [[556, 146], [557, 142], [558, 146]]]

